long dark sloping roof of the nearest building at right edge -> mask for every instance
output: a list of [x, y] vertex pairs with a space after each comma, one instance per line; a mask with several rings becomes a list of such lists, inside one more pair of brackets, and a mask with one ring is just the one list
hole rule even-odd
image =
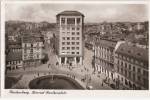
[[124, 54], [134, 59], [148, 62], [148, 50], [128, 43], [122, 43], [116, 50], [116, 53]]

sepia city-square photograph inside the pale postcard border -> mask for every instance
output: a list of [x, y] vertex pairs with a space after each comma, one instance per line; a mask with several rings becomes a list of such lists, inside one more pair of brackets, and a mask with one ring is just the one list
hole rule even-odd
[[4, 89], [149, 90], [145, 3], [5, 3]]

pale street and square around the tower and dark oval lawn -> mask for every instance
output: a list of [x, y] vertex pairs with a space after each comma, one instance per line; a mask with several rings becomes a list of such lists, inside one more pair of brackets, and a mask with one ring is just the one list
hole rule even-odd
[[[46, 46], [46, 52], [49, 56], [49, 61], [46, 64], [42, 64], [37, 67], [28, 67], [24, 69], [8, 71], [7, 76], [20, 76], [21, 80], [13, 86], [13, 88], [29, 88], [28, 84], [31, 80], [36, 77], [50, 75], [50, 74], [63, 74], [63, 75], [73, 75], [75, 80], [79, 82], [83, 87], [92, 86], [94, 90], [110, 90], [112, 89], [107, 84], [102, 83], [104, 79], [103, 74], [93, 74], [92, 69], [92, 56], [93, 52], [84, 48], [84, 61], [83, 65], [78, 65], [77, 67], [70, 70], [67, 66], [56, 65], [57, 56], [53, 53], [53, 49], [50, 46]], [[100, 76], [100, 77], [99, 77]], [[85, 79], [83, 81], [83, 79]]]

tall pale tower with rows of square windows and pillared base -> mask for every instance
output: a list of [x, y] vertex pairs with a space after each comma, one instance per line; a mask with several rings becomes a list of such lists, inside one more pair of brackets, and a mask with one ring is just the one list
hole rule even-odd
[[59, 64], [82, 64], [84, 15], [78, 11], [63, 11], [56, 17]]

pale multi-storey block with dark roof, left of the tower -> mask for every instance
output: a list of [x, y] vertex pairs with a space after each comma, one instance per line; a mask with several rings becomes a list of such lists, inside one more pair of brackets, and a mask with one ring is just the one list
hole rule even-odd
[[22, 60], [24, 67], [36, 66], [43, 58], [43, 41], [41, 37], [24, 35], [22, 37]]

